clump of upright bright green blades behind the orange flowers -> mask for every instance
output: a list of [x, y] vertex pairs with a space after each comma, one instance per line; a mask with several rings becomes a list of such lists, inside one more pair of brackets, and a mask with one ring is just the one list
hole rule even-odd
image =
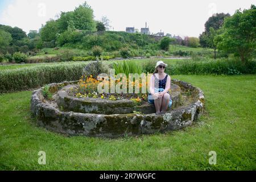
[[114, 63], [113, 68], [115, 69], [115, 74], [125, 73], [127, 77], [129, 76], [129, 73], [142, 73], [141, 64], [136, 64], [133, 60]]

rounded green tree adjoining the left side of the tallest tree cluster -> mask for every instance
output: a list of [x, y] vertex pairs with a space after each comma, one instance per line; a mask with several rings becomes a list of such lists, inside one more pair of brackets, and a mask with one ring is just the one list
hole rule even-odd
[[56, 40], [56, 34], [58, 32], [57, 22], [53, 19], [46, 22], [46, 25], [40, 29], [40, 35], [43, 42], [51, 42]]

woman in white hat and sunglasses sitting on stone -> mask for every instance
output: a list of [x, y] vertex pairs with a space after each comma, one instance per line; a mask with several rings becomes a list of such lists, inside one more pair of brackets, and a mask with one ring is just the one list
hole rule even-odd
[[171, 96], [168, 92], [171, 88], [171, 77], [164, 73], [167, 64], [158, 61], [155, 66], [155, 72], [150, 78], [150, 93], [148, 102], [155, 104], [156, 115], [164, 114], [172, 105]]

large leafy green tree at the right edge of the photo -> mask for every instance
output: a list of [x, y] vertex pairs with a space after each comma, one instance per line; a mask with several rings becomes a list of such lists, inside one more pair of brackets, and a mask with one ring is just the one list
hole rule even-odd
[[223, 34], [214, 41], [218, 49], [238, 53], [242, 62], [250, 59], [256, 47], [256, 6], [249, 10], [237, 10], [224, 20]]

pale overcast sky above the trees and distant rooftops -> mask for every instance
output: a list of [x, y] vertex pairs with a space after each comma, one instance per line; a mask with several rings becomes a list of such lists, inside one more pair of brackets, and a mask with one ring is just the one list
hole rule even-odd
[[[0, 24], [20, 27], [27, 33], [38, 30], [60, 11], [72, 11], [84, 0], [0, 0]], [[107, 16], [115, 31], [126, 27], [141, 30], [147, 22], [150, 32], [198, 37], [214, 13], [233, 15], [249, 9], [255, 0], [88, 0], [96, 20]], [[112, 30], [113, 30], [112, 28]]]

